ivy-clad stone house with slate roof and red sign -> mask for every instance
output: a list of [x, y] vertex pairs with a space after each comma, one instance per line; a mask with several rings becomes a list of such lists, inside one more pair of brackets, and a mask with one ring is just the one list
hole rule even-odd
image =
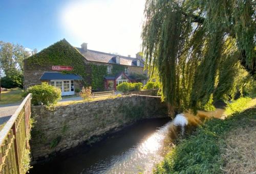
[[144, 60], [93, 51], [87, 43], [70, 45], [65, 39], [54, 43], [25, 60], [24, 88], [48, 82], [61, 89], [62, 95], [75, 94], [76, 88], [92, 86], [93, 90], [116, 90], [123, 82], [147, 81]]

